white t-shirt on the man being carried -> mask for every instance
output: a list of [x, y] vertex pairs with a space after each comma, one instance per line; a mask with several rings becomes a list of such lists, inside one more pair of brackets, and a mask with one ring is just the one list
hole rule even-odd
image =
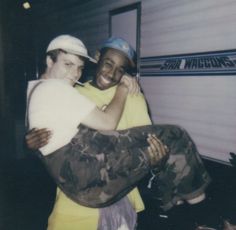
[[96, 106], [64, 80], [32, 81], [27, 91], [29, 128], [52, 131], [49, 143], [40, 148], [43, 155], [68, 144], [83, 118]]

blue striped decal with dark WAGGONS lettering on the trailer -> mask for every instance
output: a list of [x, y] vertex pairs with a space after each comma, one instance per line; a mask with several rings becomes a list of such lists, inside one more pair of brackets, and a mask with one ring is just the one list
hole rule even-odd
[[141, 76], [236, 74], [236, 50], [141, 58]]

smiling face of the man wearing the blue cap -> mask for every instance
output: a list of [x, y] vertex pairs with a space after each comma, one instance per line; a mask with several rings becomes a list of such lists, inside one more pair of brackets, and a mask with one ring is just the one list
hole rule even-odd
[[106, 50], [98, 61], [93, 85], [101, 90], [117, 85], [128, 67], [128, 58], [121, 52], [115, 49]]

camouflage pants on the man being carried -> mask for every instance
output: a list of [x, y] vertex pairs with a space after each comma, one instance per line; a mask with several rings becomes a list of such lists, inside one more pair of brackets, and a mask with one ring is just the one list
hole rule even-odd
[[163, 208], [204, 192], [210, 177], [188, 133], [174, 125], [122, 131], [97, 131], [80, 125], [69, 144], [41, 158], [69, 198], [101, 208], [121, 199], [150, 172], [148, 133], [156, 134], [169, 149], [168, 160], [154, 170], [153, 189]]

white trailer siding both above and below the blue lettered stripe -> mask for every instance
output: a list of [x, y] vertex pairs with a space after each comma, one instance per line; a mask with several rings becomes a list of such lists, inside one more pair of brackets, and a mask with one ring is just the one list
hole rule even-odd
[[[236, 1], [142, 2], [141, 56], [236, 48]], [[236, 152], [236, 76], [141, 78], [156, 123], [182, 125], [201, 154], [228, 161]]]

